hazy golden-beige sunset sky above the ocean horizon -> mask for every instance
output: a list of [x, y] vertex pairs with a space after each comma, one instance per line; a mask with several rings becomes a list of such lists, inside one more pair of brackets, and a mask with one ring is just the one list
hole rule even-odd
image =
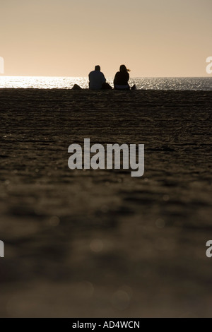
[[208, 76], [211, 0], [0, 0], [5, 76]]

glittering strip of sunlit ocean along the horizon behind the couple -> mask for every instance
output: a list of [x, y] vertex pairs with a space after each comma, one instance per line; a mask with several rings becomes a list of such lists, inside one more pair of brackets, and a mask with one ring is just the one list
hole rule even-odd
[[[113, 86], [113, 78], [107, 82]], [[0, 88], [39, 88], [39, 89], [70, 89], [74, 84], [88, 88], [87, 77], [45, 77], [45, 76], [0, 76]], [[212, 90], [210, 77], [177, 77], [177, 78], [131, 78], [129, 84], [136, 84], [143, 90]]]

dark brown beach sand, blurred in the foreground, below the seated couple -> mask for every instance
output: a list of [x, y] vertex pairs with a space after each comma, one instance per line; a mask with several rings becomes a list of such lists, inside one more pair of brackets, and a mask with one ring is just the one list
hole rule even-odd
[[[0, 90], [0, 316], [212, 316], [212, 92]], [[144, 143], [145, 173], [69, 170]]]

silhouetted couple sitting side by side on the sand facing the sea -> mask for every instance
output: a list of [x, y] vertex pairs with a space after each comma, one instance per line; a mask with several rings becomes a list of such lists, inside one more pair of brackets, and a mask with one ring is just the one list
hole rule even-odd
[[[113, 83], [115, 90], [130, 90], [128, 72], [129, 69], [126, 69], [126, 66], [122, 64], [114, 77]], [[88, 77], [90, 90], [111, 89], [111, 86], [106, 83], [104, 74], [100, 71], [100, 66], [95, 66], [95, 70], [91, 71]]]

